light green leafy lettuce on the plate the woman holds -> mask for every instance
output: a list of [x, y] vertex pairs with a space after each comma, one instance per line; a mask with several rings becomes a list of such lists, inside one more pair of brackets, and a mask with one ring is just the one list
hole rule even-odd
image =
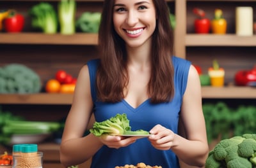
[[126, 114], [117, 114], [109, 118], [109, 120], [95, 122], [90, 132], [95, 136], [102, 136], [103, 134], [111, 136], [149, 134], [147, 131], [141, 129], [132, 131]]

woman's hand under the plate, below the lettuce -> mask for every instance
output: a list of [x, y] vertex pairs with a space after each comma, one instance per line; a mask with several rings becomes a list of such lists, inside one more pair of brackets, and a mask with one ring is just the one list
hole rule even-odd
[[109, 148], [121, 148], [129, 146], [132, 143], [136, 142], [136, 137], [122, 137], [122, 136], [100, 136], [100, 141], [108, 146]]

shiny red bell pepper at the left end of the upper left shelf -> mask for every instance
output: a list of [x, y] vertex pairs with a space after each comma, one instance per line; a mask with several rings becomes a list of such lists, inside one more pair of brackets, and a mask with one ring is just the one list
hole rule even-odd
[[4, 29], [6, 32], [21, 32], [25, 19], [23, 15], [11, 12], [9, 17], [4, 19]]

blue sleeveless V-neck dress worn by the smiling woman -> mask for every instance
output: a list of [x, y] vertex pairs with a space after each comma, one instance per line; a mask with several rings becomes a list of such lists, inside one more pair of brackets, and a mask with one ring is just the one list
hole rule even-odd
[[[188, 71], [191, 62], [179, 57], [172, 57], [175, 68], [175, 95], [171, 102], [150, 104], [146, 100], [138, 108], [132, 108], [128, 102], [122, 100], [116, 103], [99, 102], [96, 100], [95, 77], [99, 59], [90, 60], [87, 65], [90, 73], [91, 94], [94, 103], [94, 115], [97, 122], [108, 120], [117, 113], [126, 113], [132, 130], [150, 130], [157, 124], [163, 125], [177, 134], [180, 106], [186, 90]], [[93, 156], [93, 168], [114, 168], [116, 165], [136, 165], [143, 162], [147, 165], [161, 165], [164, 168], [179, 167], [179, 160], [172, 150], [157, 150], [147, 138], [138, 139], [127, 147], [114, 149], [102, 146]]]

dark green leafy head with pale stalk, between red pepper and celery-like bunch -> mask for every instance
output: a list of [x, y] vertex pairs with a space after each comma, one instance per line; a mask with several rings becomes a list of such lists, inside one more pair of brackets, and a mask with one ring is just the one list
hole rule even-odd
[[58, 29], [58, 17], [50, 3], [36, 4], [29, 10], [31, 24], [34, 28], [42, 29], [45, 33], [56, 33]]

